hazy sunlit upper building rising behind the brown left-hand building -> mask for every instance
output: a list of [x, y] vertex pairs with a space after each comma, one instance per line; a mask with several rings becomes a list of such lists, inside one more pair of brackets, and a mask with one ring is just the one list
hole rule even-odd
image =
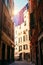
[[6, 5], [9, 10], [9, 14], [12, 18], [14, 16], [14, 0], [2, 0], [2, 2]]

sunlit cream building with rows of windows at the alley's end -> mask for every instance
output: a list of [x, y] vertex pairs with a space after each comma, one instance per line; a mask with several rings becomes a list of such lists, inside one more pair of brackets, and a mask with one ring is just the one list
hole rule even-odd
[[19, 60], [30, 60], [30, 40], [29, 40], [29, 12], [23, 12], [24, 22], [15, 27], [15, 58]]

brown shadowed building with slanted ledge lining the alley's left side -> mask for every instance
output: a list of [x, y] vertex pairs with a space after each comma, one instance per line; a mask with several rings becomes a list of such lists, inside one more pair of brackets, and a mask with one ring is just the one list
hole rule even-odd
[[2, 0], [0, 6], [0, 64], [3, 64], [14, 61], [14, 23]]

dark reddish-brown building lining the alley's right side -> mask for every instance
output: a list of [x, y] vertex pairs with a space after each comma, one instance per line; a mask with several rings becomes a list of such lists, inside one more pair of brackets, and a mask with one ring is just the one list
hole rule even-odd
[[29, 0], [31, 61], [43, 65], [43, 1]]

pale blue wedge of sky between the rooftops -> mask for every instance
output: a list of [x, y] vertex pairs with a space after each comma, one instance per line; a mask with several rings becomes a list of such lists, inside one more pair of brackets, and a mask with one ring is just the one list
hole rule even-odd
[[28, 0], [14, 0], [15, 15], [28, 3]]

